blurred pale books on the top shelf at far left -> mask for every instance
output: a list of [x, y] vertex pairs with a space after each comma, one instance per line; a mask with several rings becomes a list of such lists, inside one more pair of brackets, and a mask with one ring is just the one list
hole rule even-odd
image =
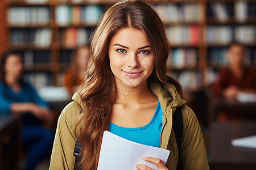
[[47, 25], [50, 22], [49, 7], [9, 7], [7, 23], [9, 26]]

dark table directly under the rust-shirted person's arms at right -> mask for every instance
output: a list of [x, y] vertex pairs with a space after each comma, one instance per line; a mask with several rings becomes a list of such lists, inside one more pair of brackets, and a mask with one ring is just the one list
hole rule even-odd
[[253, 114], [256, 116], [256, 103], [242, 103], [236, 99], [226, 99], [222, 96], [209, 97], [208, 125], [216, 120], [218, 113], [221, 112], [240, 116], [245, 115], [245, 117]]

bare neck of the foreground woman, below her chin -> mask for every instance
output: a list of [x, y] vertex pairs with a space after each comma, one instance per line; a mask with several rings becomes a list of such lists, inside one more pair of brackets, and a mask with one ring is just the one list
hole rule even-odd
[[123, 84], [121, 80], [117, 84], [116, 104], [134, 105], [142, 103], [153, 103], [158, 100], [153, 92], [148, 88], [147, 81], [137, 87], [130, 87]]

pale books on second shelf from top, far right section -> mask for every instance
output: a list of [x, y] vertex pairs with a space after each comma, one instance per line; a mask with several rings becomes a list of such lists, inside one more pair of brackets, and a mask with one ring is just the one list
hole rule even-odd
[[208, 26], [207, 43], [209, 45], [226, 45], [232, 41], [242, 44], [255, 44], [256, 27], [253, 25], [242, 26]]

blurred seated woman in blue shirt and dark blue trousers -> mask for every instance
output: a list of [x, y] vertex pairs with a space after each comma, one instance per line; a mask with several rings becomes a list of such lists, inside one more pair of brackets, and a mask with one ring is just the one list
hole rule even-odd
[[51, 153], [54, 139], [52, 130], [44, 129], [42, 121], [52, 121], [53, 114], [30, 83], [22, 80], [22, 58], [6, 52], [1, 57], [0, 113], [23, 117], [22, 146], [27, 152], [23, 169], [34, 169]]

